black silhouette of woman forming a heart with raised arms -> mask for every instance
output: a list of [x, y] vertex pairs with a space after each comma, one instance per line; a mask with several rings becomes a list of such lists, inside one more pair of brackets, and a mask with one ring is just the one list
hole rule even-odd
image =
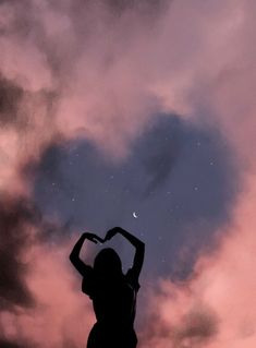
[[[118, 253], [102, 249], [94, 261], [94, 267], [80, 259], [85, 239], [95, 243], [122, 235], [135, 247], [133, 266], [124, 275]], [[94, 233], [83, 233], [75, 243], [70, 260], [83, 276], [82, 291], [93, 300], [97, 319], [87, 340], [87, 348], [135, 348], [137, 337], [133, 327], [136, 295], [139, 289], [138, 276], [144, 261], [144, 243], [120, 227], [110, 229], [105, 239]]]

